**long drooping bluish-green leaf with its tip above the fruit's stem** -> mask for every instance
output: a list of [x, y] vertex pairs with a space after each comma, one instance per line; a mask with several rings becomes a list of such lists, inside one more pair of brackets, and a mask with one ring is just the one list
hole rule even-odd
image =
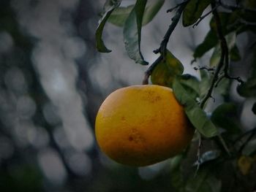
[[140, 52], [140, 35], [146, 2], [146, 0], [137, 0], [135, 7], [124, 23], [124, 45], [129, 58], [142, 65], [148, 64], [148, 62], [144, 61]]

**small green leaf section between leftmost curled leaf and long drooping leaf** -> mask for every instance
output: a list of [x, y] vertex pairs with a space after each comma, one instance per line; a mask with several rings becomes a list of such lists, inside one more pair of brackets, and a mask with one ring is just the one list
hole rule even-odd
[[133, 7], [135, 7], [134, 4], [128, 7], [118, 7], [114, 9], [108, 18], [108, 22], [119, 27], [124, 26], [124, 23], [127, 20], [130, 12], [132, 12]]

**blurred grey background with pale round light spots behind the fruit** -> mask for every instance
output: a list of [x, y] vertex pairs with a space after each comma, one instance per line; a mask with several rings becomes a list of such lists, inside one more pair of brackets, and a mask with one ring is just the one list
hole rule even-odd
[[[166, 10], [177, 2], [166, 1], [143, 28], [141, 47], [150, 64], [173, 16]], [[172, 189], [169, 161], [121, 166], [95, 142], [94, 119], [103, 99], [116, 88], [141, 84], [147, 68], [128, 58], [122, 28], [110, 23], [104, 39], [113, 51], [97, 53], [94, 32], [104, 3], [0, 0], [0, 191]], [[173, 32], [168, 48], [185, 73], [198, 76], [190, 64], [192, 51], [208, 31], [209, 19], [196, 28], [179, 24]]]

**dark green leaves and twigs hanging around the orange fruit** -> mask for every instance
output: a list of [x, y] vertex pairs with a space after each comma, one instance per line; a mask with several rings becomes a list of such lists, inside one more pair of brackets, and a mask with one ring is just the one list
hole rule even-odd
[[[110, 4], [107, 1], [106, 4]], [[103, 29], [106, 21], [123, 27], [124, 44], [127, 53], [136, 63], [148, 64], [141, 53], [140, 39], [143, 25], [151, 22], [154, 15], [160, 10], [163, 1], [154, 1], [149, 4], [147, 1], [137, 0], [135, 5], [129, 7], [113, 7], [112, 13], [108, 18], [99, 20], [97, 30]], [[149, 8], [150, 7], [150, 8]], [[241, 112], [238, 108], [239, 103], [233, 102], [230, 97], [232, 82], [238, 82], [238, 94], [244, 99], [255, 99], [256, 96], [256, 4], [255, 1], [233, 1], [227, 4], [225, 1], [201, 1], [187, 0], [167, 12], [176, 11], [172, 18], [170, 27], [160, 46], [154, 53], [159, 57], [151, 66], [146, 69], [144, 84], [151, 82], [157, 85], [165, 85], [173, 88], [176, 99], [184, 105], [184, 109], [192, 125], [197, 129], [195, 134], [195, 143], [193, 145], [197, 153], [194, 158], [197, 159], [196, 169], [192, 169], [188, 175], [181, 171], [183, 164], [176, 164], [173, 169], [173, 186], [177, 191], [226, 191], [230, 183], [236, 183], [238, 187], [230, 187], [230, 191], [248, 191], [255, 190], [255, 129], [244, 131], [241, 123]], [[182, 18], [181, 18], [182, 15]], [[212, 16], [210, 16], [212, 15]], [[196, 59], [203, 57], [210, 50], [214, 50], [210, 61], [203, 66], [195, 66], [200, 70], [200, 77], [192, 77], [190, 74], [183, 74], [184, 66], [178, 61], [178, 58], [167, 50], [167, 42], [176, 28], [178, 20], [182, 19], [182, 24], [186, 28], [192, 26], [195, 28], [204, 18], [211, 17], [209, 23], [210, 29], [205, 39], [200, 45], [195, 47], [193, 56]], [[248, 34], [254, 37], [252, 45], [246, 47], [249, 52], [250, 69], [249, 78], [245, 81], [241, 77], [233, 77], [233, 62], [243, 63], [246, 58], [241, 55], [241, 48], [238, 47], [238, 37], [241, 34]], [[102, 38], [101, 34], [96, 34], [97, 42]], [[241, 68], [243, 66], [240, 66]], [[210, 107], [209, 103], [215, 100], [214, 97], [220, 96], [223, 101]], [[251, 111], [255, 114], [254, 104]], [[210, 112], [206, 113], [206, 108]], [[204, 153], [201, 154], [201, 147], [204, 147]], [[251, 145], [251, 151], [246, 153], [246, 147]], [[178, 156], [179, 161], [186, 161], [186, 153]], [[244, 156], [243, 154], [246, 153]], [[223, 165], [229, 164], [230, 170], [219, 174], [216, 168], [221, 169]], [[215, 169], [215, 170], [214, 170]], [[223, 168], [224, 169], [224, 168]], [[192, 175], [196, 174], [196, 177]], [[233, 175], [236, 175], [233, 177]], [[228, 182], [227, 182], [228, 181]]]

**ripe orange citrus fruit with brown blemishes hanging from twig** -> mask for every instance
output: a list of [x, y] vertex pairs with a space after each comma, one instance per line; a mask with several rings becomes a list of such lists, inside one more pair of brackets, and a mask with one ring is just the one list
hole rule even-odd
[[147, 166], [181, 153], [194, 128], [170, 88], [132, 85], [105, 99], [95, 134], [99, 148], [114, 161]]

